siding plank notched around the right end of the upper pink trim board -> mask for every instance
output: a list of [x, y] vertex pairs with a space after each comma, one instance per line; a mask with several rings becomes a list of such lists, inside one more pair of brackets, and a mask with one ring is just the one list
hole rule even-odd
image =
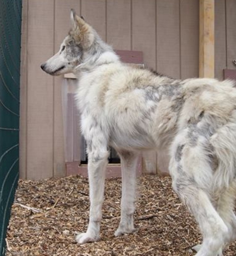
[[144, 64], [156, 69], [156, 0], [132, 0], [132, 50], [142, 51]]

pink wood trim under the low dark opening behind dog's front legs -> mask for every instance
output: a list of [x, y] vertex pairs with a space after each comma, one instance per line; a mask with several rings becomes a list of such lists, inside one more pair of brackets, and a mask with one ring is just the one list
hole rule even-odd
[[[138, 176], [142, 174], [142, 157], [140, 156], [137, 168]], [[87, 177], [87, 165], [79, 165], [78, 161], [66, 162], [66, 176], [82, 175]], [[121, 177], [120, 164], [108, 164], [106, 170], [106, 177]]]

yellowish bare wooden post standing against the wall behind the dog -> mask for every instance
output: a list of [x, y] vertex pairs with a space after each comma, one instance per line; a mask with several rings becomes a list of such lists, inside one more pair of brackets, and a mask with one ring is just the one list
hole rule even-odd
[[199, 77], [214, 77], [214, 0], [200, 0]]

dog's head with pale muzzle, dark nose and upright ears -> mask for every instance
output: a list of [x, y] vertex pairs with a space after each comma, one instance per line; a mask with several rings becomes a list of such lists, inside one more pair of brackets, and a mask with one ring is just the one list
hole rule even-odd
[[83, 55], [94, 42], [93, 28], [71, 9], [72, 28], [63, 40], [59, 51], [41, 64], [41, 69], [50, 75], [73, 72], [81, 64]]

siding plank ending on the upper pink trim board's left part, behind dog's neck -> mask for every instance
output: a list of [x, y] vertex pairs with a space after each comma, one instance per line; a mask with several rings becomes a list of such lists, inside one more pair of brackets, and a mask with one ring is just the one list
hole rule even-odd
[[107, 42], [114, 49], [131, 49], [131, 0], [107, 1]]

